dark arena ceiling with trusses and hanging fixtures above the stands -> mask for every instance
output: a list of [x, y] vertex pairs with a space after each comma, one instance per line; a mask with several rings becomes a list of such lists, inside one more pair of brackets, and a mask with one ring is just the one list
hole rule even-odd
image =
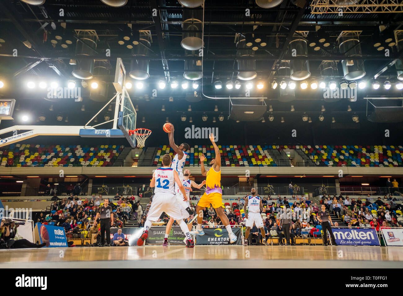
[[[227, 118], [229, 97], [245, 98], [253, 101], [252, 105], [264, 101], [266, 113], [270, 113], [272, 105], [274, 112], [283, 112], [284, 116], [294, 108], [294, 112], [307, 112], [312, 118], [324, 112], [324, 104], [327, 111], [345, 114], [350, 120], [348, 106], [366, 116], [366, 97], [386, 98], [386, 103], [379, 104], [378, 100], [376, 106], [401, 107], [401, 89], [395, 87], [403, 57], [403, 44], [399, 47], [403, 4], [398, 1], [206, 0], [204, 6], [197, 6], [202, 1], [109, 0], [112, 5], [124, 4], [121, 7], [104, 2], [108, 0], [1, 2], [0, 38], [4, 42], [0, 43], [0, 76], [5, 81], [0, 91], [2, 97], [17, 99], [19, 109], [32, 110], [36, 120], [43, 113], [47, 119], [39, 124], [57, 122], [56, 114], [50, 112], [63, 113], [64, 118], [69, 116], [81, 123], [83, 116], [75, 115], [83, 105], [86, 112], [93, 113], [114, 95], [111, 83], [116, 59], [122, 58], [127, 72], [137, 73], [137, 80], [131, 80], [129, 94], [133, 105], [143, 107], [139, 108], [139, 118], [151, 114], [164, 122], [168, 109], [172, 111], [169, 116], [179, 117], [188, 112], [189, 104], [196, 106], [192, 108], [192, 112], [197, 112], [194, 116], [213, 112], [217, 105], [220, 111], [225, 110]], [[265, 5], [270, 8], [261, 7]], [[96, 46], [88, 45], [88, 36]], [[129, 36], [128, 40], [123, 39], [125, 36]], [[198, 38], [204, 42], [202, 54]], [[386, 41], [388, 38], [393, 41]], [[352, 39], [353, 46], [346, 48], [348, 42], [343, 41]], [[247, 46], [249, 41], [251, 45]], [[334, 81], [339, 87], [348, 78], [343, 60], [353, 61], [355, 70], [365, 73], [364, 77], [353, 75], [351, 80], [347, 79], [347, 84], [361, 80], [367, 83], [365, 89], [357, 92], [357, 101], [349, 97], [329, 98], [324, 91], [310, 89], [313, 81], [323, 81], [326, 87]], [[89, 61], [93, 62], [93, 70]], [[91, 68], [93, 78], [82, 80], [74, 76], [77, 67]], [[181, 88], [184, 74], [190, 83], [188, 89]], [[199, 84], [195, 99], [191, 79], [201, 76], [195, 80]], [[253, 87], [247, 93], [246, 79], [252, 77]], [[84, 87], [85, 82], [90, 84], [93, 79], [100, 85], [98, 90]], [[31, 80], [36, 84], [43, 80], [48, 85], [57, 80], [59, 86], [75, 81], [76, 85], [83, 85], [81, 100], [49, 98], [46, 89], [38, 87], [27, 90], [26, 83]], [[142, 89], [136, 89], [138, 81], [143, 82]], [[165, 89], [158, 88], [159, 81], [166, 83]], [[178, 81], [177, 89], [170, 88], [173, 81]], [[218, 81], [222, 89], [215, 88]], [[235, 86], [237, 81], [240, 89], [226, 89], [227, 82]], [[273, 89], [273, 81], [278, 85], [284, 81], [287, 88]], [[289, 91], [290, 81], [296, 83], [295, 90]], [[303, 81], [307, 81], [307, 89], [301, 89]], [[377, 90], [371, 87], [375, 81], [380, 83]], [[391, 89], [384, 88], [385, 81], [391, 82]], [[258, 82], [263, 84], [262, 89], [257, 88]], [[154, 89], [158, 91], [156, 96]], [[171, 105], [170, 97], [175, 102]], [[147, 113], [141, 114], [142, 110]], [[189, 119], [191, 114], [187, 116]], [[280, 117], [277, 119], [280, 121]], [[332, 116], [326, 120], [332, 120]]]

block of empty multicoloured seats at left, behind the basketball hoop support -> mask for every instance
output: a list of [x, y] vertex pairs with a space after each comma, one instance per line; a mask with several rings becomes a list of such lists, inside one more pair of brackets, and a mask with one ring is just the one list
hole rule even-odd
[[1, 166], [112, 166], [124, 146], [12, 144], [0, 148]]

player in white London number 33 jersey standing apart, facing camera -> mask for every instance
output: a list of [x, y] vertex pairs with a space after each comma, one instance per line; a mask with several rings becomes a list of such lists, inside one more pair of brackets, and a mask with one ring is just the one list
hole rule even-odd
[[[245, 232], [245, 242], [244, 245], [247, 245], [247, 239], [249, 237], [249, 231], [253, 227], [253, 223], [260, 228], [260, 233], [263, 236], [262, 243], [266, 244], [264, 242], [265, 238], [265, 232], [264, 232], [264, 225], [263, 225], [263, 219], [262, 216], [260, 215], [260, 211], [263, 211], [263, 203], [262, 199], [256, 195], [256, 189], [252, 188], [251, 189], [252, 195], [249, 195], [245, 199], [245, 204], [243, 205], [243, 211], [245, 212], [245, 218], [246, 218], [246, 232]], [[246, 207], [248, 207], [248, 212], [246, 212]]]

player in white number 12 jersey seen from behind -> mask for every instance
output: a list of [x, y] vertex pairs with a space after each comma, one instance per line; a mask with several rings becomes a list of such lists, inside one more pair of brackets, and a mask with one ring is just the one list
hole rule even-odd
[[183, 196], [186, 196], [186, 190], [179, 179], [178, 172], [170, 168], [171, 163], [172, 157], [169, 154], [165, 154], [162, 157], [162, 167], [155, 170], [151, 179], [150, 187], [155, 187], [154, 197], [147, 214], [147, 220], [144, 223], [144, 231], [137, 240], [137, 246], [143, 245], [144, 240], [148, 237], [148, 230], [152, 222], [157, 221], [162, 212], [165, 212], [179, 222], [179, 226], [181, 226], [181, 230], [187, 238], [186, 247], [193, 248], [195, 246], [186, 222], [183, 220], [185, 217], [183, 217], [181, 208], [175, 197], [176, 186], [179, 186], [179, 190], [181, 190]]

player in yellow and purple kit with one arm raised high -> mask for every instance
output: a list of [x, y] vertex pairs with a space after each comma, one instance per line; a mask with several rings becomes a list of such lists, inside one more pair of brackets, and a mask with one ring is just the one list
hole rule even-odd
[[214, 135], [210, 134], [209, 139], [214, 146], [214, 151], [216, 153], [216, 158], [210, 161], [211, 168], [206, 171], [204, 168], [204, 159], [206, 157], [204, 154], [200, 157], [200, 164], [202, 166], [202, 175], [206, 176], [206, 192], [200, 198], [199, 202], [196, 206], [197, 215], [197, 229], [191, 234], [194, 235], [204, 235], [204, 231], [202, 229], [203, 222], [203, 208], [210, 207], [210, 203], [213, 208], [216, 210], [218, 217], [220, 217], [222, 224], [224, 224], [226, 230], [229, 234], [229, 240], [231, 244], [237, 241], [237, 236], [232, 232], [231, 225], [229, 225], [228, 217], [224, 213], [224, 209], [222, 208], [222, 190], [221, 190], [221, 155], [220, 149], [218, 149], [217, 144], [214, 142]]

